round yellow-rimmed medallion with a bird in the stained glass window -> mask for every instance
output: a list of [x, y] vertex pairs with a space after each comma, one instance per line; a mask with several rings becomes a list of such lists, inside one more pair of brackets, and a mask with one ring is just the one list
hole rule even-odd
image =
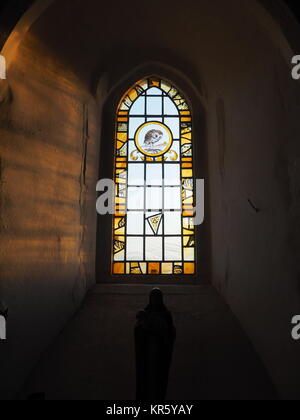
[[135, 134], [135, 145], [146, 156], [164, 155], [172, 143], [173, 136], [170, 129], [160, 122], [143, 124]]

